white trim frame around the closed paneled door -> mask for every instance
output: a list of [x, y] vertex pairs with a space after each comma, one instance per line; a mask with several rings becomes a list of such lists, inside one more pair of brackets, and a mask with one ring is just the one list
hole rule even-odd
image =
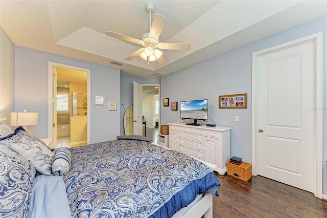
[[314, 42], [314, 195], [322, 198], [322, 112], [323, 112], [323, 75], [322, 75], [322, 40], [323, 33], [315, 33], [290, 42], [283, 43], [252, 54], [252, 121], [251, 121], [251, 144], [252, 144], [252, 175], [258, 175], [258, 58], [262, 55], [278, 50], [301, 45], [309, 41]]

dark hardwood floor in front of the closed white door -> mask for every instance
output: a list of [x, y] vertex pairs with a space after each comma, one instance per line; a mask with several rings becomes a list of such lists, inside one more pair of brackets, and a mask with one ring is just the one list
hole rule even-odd
[[327, 201], [261, 176], [244, 182], [215, 172], [221, 187], [213, 217], [327, 217]]

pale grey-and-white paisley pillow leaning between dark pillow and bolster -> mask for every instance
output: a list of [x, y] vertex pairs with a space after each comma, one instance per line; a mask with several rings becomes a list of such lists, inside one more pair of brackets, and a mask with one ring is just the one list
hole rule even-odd
[[43, 175], [51, 175], [53, 152], [38, 138], [16, 128], [12, 136], [1, 141], [28, 160]]

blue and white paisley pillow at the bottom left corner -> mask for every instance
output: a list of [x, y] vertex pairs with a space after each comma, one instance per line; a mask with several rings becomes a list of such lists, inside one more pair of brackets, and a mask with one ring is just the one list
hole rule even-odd
[[0, 217], [27, 217], [35, 168], [0, 143]]

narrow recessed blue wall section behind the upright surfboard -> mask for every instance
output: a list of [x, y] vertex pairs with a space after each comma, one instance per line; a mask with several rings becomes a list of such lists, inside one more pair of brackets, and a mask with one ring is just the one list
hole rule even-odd
[[124, 107], [131, 107], [133, 104], [133, 81], [139, 83], [139, 84], [160, 84], [160, 79], [139, 79], [132, 77], [132, 75], [129, 77], [128, 73], [124, 72], [124, 75], [127, 76], [121, 76], [121, 104], [117, 104], [117, 110], [120, 110], [121, 116], [120, 116], [120, 135], [125, 135], [124, 130], [124, 108], [122, 104], [124, 104]]

